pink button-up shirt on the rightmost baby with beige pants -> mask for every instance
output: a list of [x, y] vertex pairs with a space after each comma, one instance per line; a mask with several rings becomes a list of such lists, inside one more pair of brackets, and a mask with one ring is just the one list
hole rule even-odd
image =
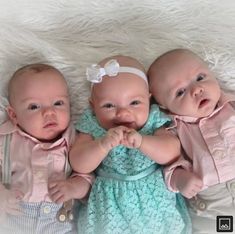
[[235, 97], [222, 94], [216, 110], [204, 118], [173, 116], [174, 128], [181, 141], [183, 156], [165, 168], [170, 190], [176, 167], [195, 172], [203, 189], [235, 178]]

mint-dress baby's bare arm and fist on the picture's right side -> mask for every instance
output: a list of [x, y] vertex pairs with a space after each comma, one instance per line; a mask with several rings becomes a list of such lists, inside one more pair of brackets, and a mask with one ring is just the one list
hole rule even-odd
[[[164, 128], [159, 128], [154, 135], [140, 135], [135, 130], [129, 131], [126, 136], [129, 146], [139, 148], [145, 155], [159, 164], [168, 164], [175, 161], [180, 155], [178, 138]], [[125, 144], [128, 146], [128, 144]]]

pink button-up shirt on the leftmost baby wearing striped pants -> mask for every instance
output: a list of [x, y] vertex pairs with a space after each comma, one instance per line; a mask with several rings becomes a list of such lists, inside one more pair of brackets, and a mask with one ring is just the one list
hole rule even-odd
[[[6, 134], [12, 134], [11, 188], [20, 189], [25, 202], [51, 202], [48, 181], [65, 178], [66, 157], [74, 140], [74, 128], [70, 126], [56, 142], [43, 143], [15, 127], [10, 121], [5, 122], [0, 126], [0, 166], [3, 158], [3, 136]], [[89, 180], [89, 176], [87, 178]]]

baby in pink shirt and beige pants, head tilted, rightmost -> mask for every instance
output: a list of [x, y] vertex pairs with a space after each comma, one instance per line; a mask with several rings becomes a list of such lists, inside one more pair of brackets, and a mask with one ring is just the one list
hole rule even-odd
[[183, 148], [165, 171], [168, 188], [189, 199], [193, 233], [215, 233], [218, 215], [235, 215], [235, 97], [187, 49], [161, 55], [148, 75]]

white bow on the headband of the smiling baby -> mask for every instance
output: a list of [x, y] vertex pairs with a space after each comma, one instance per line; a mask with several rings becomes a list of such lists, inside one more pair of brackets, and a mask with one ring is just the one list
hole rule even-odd
[[116, 76], [119, 72], [120, 65], [115, 59], [108, 61], [104, 67], [98, 64], [92, 64], [86, 69], [86, 77], [92, 83], [100, 83], [103, 76]]

